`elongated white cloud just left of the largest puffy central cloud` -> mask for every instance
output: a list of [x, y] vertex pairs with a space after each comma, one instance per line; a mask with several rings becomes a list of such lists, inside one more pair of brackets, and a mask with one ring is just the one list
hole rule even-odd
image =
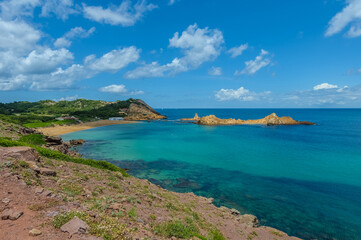
[[139, 59], [139, 52], [140, 50], [134, 46], [112, 50], [98, 59], [94, 55], [88, 56], [85, 64], [95, 71], [114, 72], [124, 68], [129, 63], [137, 61]]

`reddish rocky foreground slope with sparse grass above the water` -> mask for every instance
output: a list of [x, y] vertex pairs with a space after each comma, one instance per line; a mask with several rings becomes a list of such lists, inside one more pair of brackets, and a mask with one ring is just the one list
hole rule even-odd
[[0, 239], [298, 239], [212, 199], [61, 154], [61, 139], [18, 146], [28, 132], [0, 122]]

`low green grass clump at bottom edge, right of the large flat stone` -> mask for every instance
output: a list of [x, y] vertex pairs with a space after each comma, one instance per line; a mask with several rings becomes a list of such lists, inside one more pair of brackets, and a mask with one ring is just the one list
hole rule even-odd
[[154, 228], [155, 233], [164, 237], [176, 237], [189, 239], [199, 234], [199, 229], [194, 224], [185, 224], [180, 220], [168, 221], [158, 224]]

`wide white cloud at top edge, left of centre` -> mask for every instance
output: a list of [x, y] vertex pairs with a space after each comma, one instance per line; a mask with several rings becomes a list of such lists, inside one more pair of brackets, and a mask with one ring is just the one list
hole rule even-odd
[[107, 23], [110, 25], [133, 26], [144, 13], [157, 8], [154, 4], [147, 4], [145, 0], [132, 6], [129, 0], [123, 1], [119, 6], [110, 5], [108, 8], [101, 6], [87, 6], [83, 4], [84, 17], [90, 20]]

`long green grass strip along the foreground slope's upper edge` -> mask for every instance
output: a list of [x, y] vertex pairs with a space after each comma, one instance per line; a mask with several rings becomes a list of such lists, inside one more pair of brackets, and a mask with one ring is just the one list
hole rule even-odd
[[103, 169], [103, 170], [120, 172], [124, 177], [129, 177], [129, 175], [126, 173], [126, 171], [124, 169], [119, 168], [106, 161], [97, 161], [97, 160], [85, 159], [85, 158], [74, 158], [74, 157], [70, 157], [66, 154], [63, 154], [61, 152], [58, 152], [55, 150], [50, 150], [50, 149], [43, 148], [43, 147], [39, 147], [34, 144], [29, 144], [29, 143], [22, 142], [22, 141], [8, 140], [8, 139], [4, 139], [4, 138], [0, 138], [0, 146], [2, 146], [2, 147], [28, 146], [28, 147], [32, 147], [35, 150], [37, 150], [39, 155], [43, 156], [43, 157], [66, 161], [66, 162], [79, 163], [79, 164], [88, 165], [88, 166]]

